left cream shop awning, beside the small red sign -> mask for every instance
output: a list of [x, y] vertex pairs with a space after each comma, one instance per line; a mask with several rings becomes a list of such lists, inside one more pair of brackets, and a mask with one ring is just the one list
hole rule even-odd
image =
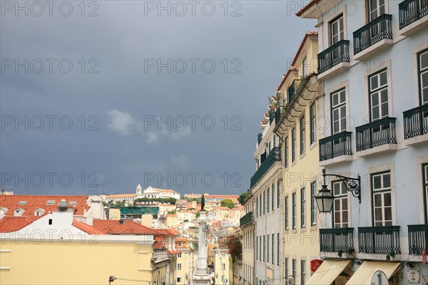
[[325, 260], [322, 262], [317, 271], [315, 271], [310, 279], [306, 282], [307, 285], [330, 285], [335, 281], [337, 276], [350, 264], [350, 260]]

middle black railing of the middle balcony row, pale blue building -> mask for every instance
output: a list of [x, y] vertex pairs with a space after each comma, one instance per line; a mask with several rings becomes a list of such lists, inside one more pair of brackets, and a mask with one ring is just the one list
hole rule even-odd
[[357, 151], [386, 145], [387, 143], [397, 143], [395, 136], [396, 119], [387, 117], [355, 128]]

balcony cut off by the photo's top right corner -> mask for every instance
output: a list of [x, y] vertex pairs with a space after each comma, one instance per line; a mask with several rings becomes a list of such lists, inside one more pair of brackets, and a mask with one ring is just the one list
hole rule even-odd
[[419, 29], [427, 28], [428, 1], [405, 0], [398, 4], [398, 9], [400, 34], [409, 36]]

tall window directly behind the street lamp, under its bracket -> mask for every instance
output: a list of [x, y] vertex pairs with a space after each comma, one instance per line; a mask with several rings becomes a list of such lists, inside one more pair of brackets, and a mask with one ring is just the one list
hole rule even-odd
[[349, 227], [346, 185], [341, 181], [333, 181], [332, 190], [333, 196], [335, 196], [333, 203], [333, 225], [336, 229]]

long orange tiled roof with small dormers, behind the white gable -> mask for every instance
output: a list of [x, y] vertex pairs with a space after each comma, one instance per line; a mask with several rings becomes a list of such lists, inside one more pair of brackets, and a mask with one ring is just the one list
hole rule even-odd
[[[88, 196], [73, 196], [73, 195], [0, 195], [0, 207], [9, 209], [6, 213], [7, 216], [14, 215], [14, 209], [24, 209], [24, 215], [34, 216], [34, 211], [38, 208], [44, 209], [46, 212], [53, 212], [58, 209], [58, 203], [61, 199], [65, 199], [67, 202], [75, 201], [76, 209], [74, 214], [82, 215], [83, 208], [90, 209], [91, 207], [86, 204]], [[54, 200], [54, 204], [46, 205], [49, 200]], [[19, 202], [26, 201], [26, 204], [18, 204]]]

